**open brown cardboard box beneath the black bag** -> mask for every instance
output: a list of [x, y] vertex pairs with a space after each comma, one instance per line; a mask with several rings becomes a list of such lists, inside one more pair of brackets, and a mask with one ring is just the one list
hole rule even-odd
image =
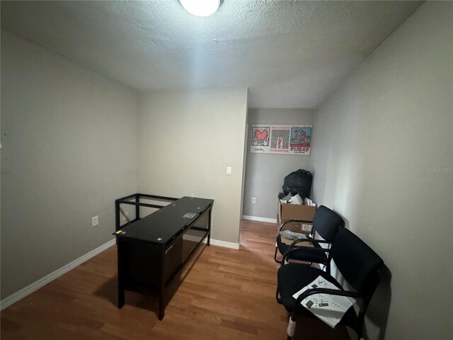
[[281, 203], [280, 199], [284, 197], [285, 193], [278, 194], [277, 227], [280, 228], [280, 225], [287, 220], [303, 220], [306, 222], [290, 222], [283, 229], [310, 234], [311, 228], [313, 227], [312, 222], [316, 212], [316, 206]]

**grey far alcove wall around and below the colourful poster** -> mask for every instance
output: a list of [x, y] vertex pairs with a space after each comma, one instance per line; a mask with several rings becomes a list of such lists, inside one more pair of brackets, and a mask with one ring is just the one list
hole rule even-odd
[[[248, 114], [248, 134], [253, 124], [311, 125], [311, 109], [251, 109]], [[289, 154], [252, 154], [247, 141], [246, 187], [243, 215], [275, 219], [277, 193], [282, 191], [285, 176], [298, 169], [308, 169], [310, 156]], [[252, 197], [256, 203], [252, 204]]]

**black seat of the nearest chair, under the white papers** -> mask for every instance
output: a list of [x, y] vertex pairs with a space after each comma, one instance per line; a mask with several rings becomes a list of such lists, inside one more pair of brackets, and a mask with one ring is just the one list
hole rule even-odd
[[[278, 292], [280, 293], [282, 305], [285, 306], [285, 309], [289, 313], [292, 313], [296, 307], [296, 299], [294, 299], [292, 295], [297, 293], [306, 285], [309, 285], [309, 283], [313, 282], [316, 278], [318, 278], [318, 276], [322, 276], [329, 282], [333, 283], [333, 285], [336, 285], [336, 287], [340, 290], [343, 290], [341, 285], [334, 278], [318, 268], [301, 266], [299, 263], [287, 263], [285, 266], [281, 266], [278, 269]], [[309, 310], [306, 310], [304, 307], [302, 307], [300, 311], [302, 314], [314, 317], [314, 314], [309, 312]], [[340, 323], [345, 324], [352, 329], [357, 327], [357, 315], [355, 314], [353, 306], [350, 307], [350, 309], [345, 313]]]

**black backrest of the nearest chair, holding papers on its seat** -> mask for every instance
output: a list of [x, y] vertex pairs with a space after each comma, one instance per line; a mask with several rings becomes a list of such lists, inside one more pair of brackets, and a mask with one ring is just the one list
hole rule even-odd
[[352, 288], [367, 295], [374, 293], [384, 261], [365, 242], [341, 228], [331, 246], [331, 256]]

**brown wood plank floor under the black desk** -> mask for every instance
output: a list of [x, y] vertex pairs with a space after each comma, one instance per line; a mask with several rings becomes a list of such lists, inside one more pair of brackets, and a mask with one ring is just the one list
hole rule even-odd
[[251, 221], [239, 250], [205, 246], [161, 322], [156, 297], [127, 292], [117, 309], [112, 246], [2, 311], [1, 339], [285, 339], [274, 246], [275, 225]]

